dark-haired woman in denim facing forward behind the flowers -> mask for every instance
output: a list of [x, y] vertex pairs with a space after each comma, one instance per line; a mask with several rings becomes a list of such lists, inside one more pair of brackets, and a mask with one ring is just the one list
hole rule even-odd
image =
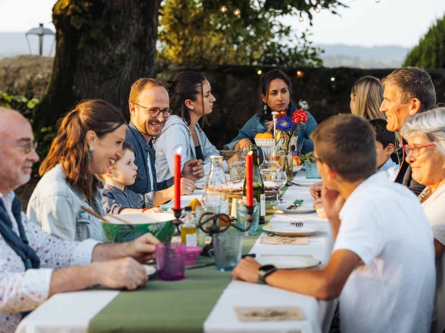
[[[238, 135], [224, 146], [225, 149], [241, 149], [248, 147], [254, 142], [254, 137], [258, 133], [273, 130], [272, 112], [286, 112], [288, 115], [297, 110], [291, 100], [292, 84], [291, 80], [278, 69], [268, 71], [260, 82], [259, 92], [263, 108], [258, 114], [254, 114], [247, 123], [239, 130]], [[300, 127], [303, 138], [301, 152], [303, 154], [314, 150], [314, 144], [309, 135], [314, 132], [317, 122], [312, 114], [307, 112], [307, 123]]]

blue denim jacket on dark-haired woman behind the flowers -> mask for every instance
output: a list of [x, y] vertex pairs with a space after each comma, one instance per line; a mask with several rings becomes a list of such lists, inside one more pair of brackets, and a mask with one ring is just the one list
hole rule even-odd
[[[296, 105], [291, 103], [289, 104], [289, 110], [287, 113], [290, 115], [296, 110]], [[304, 140], [301, 148], [302, 154], [306, 154], [314, 150], [314, 142], [312, 142], [312, 140], [309, 138], [309, 135], [314, 132], [315, 128], [317, 127], [317, 122], [309, 112], [307, 112], [307, 118], [307, 123], [300, 127]], [[250, 118], [247, 123], [245, 123], [243, 128], [239, 130], [238, 135], [232, 140], [232, 142], [224, 146], [224, 149], [234, 149], [235, 145], [241, 139], [250, 139], [251, 142], [254, 142], [255, 135], [258, 133], [264, 133], [267, 130], [267, 126], [261, 122], [261, 116], [259, 114], [254, 114], [254, 116]]]

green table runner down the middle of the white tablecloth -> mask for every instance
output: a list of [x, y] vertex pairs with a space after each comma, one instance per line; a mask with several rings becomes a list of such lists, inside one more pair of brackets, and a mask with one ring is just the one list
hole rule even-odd
[[[273, 205], [266, 202], [266, 222], [274, 212]], [[256, 235], [243, 238], [243, 254], [249, 253], [260, 233], [261, 225]], [[212, 261], [199, 257], [197, 264]], [[202, 332], [204, 321], [231, 280], [231, 272], [209, 266], [186, 270], [181, 281], [149, 281], [143, 289], [120, 292], [92, 318], [88, 332]]]

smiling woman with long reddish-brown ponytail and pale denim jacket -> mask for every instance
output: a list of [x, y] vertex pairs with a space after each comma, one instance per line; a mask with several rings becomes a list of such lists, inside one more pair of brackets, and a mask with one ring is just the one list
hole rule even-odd
[[83, 101], [60, 119], [58, 134], [40, 165], [42, 176], [29, 199], [27, 215], [60, 239], [105, 241], [95, 216], [104, 215], [100, 180], [122, 157], [125, 119], [122, 112], [101, 100]]

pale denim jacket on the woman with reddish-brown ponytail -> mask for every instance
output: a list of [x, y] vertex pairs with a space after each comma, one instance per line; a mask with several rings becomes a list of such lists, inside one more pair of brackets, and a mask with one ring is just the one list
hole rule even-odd
[[63, 240], [92, 238], [105, 241], [101, 222], [82, 210], [82, 205], [101, 216], [105, 215], [102, 191], [98, 189], [96, 196], [87, 201], [79, 189], [67, 182], [65, 171], [57, 164], [38, 182], [29, 199], [26, 215], [44, 231]]

